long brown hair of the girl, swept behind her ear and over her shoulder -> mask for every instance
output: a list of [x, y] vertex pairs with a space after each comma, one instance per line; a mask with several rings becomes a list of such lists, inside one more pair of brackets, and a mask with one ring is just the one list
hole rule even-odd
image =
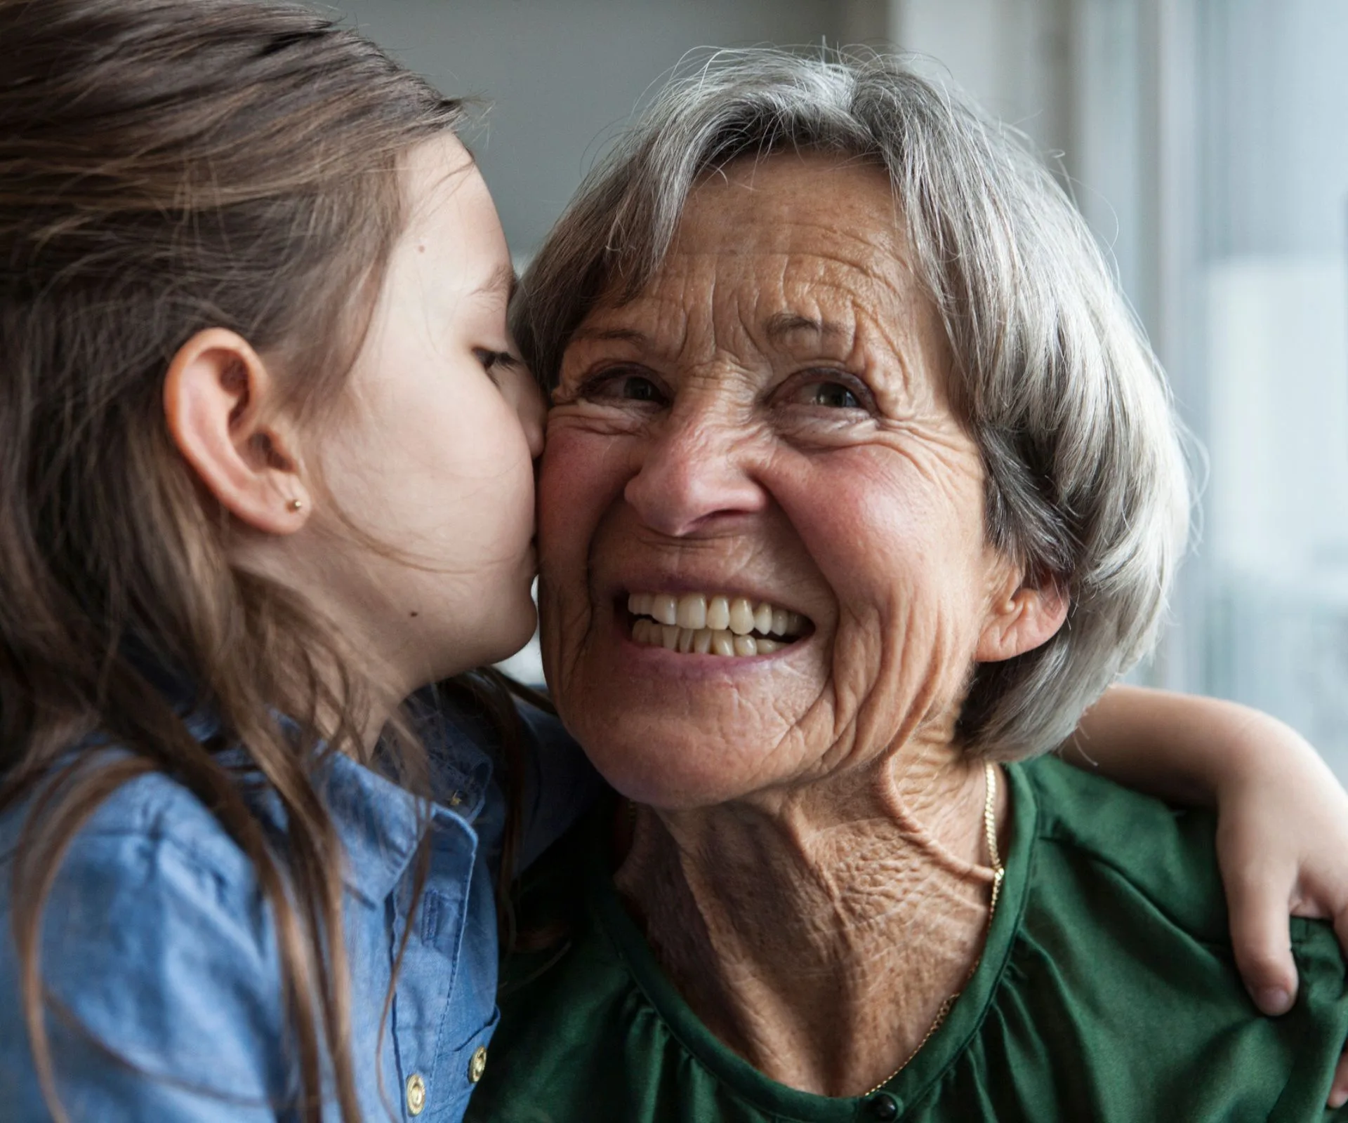
[[[461, 117], [298, 5], [0, 0], [0, 813], [30, 801], [12, 937], [58, 1119], [43, 906], [82, 824], [151, 771], [252, 861], [299, 1116], [319, 1119], [326, 1069], [360, 1118], [341, 844], [314, 777], [325, 752], [361, 751], [368, 684], [301, 596], [229, 564], [229, 519], [175, 452], [163, 377], [224, 326], [284, 372], [295, 410], [333, 407], [402, 226], [399, 158]], [[189, 732], [166, 675], [220, 737]], [[499, 686], [477, 682], [508, 721]], [[93, 735], [125, 754], [71, 751]], [[284, 806], [279, 848], [218, 759], [231, 744]], [[399, 744], [399, 777], [425, 778], [415, 737]]]

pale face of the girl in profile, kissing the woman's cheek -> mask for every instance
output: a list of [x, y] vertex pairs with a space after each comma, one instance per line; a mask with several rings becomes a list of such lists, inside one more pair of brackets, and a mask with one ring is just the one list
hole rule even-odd
[[508, 359], [514, 272], [466, 150], [453, 138], [415, 150], [407, 197], [350, 407], [322, 449], [337, 507], [391, 549], [353, 549], [337, 526], [324, 582], [414, 686], [532, 634], [543, 407]]

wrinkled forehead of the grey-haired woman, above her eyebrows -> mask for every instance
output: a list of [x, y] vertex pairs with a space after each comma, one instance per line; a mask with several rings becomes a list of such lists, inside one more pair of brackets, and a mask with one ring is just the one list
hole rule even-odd
[[944, 399], [923, 386], [942, 380], [941, 341], [888, 185], [869, 186], [821, 214], [817, 198], [708, 181], [646, 290], [612, 311], [650, 337], [652, 359], [708, 371], [838, 361], [872, 382], [884, 413], [910, 417]]

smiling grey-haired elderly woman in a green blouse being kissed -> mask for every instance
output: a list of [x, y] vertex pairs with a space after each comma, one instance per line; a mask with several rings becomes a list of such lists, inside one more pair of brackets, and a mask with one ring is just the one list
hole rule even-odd
[[[1054, 759], [1188, 522], [1155, 360], [1039, 166], [890, 59], [667, 92], [530, 275], [545, 661], [612, 786], [534, 872], [479, 1119], [1321, 1118], [1213, 824]], [[584, 891], [577, 891], [584, 886]]]

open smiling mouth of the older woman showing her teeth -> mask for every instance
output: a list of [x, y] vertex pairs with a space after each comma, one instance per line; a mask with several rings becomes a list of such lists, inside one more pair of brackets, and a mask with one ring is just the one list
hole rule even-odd
[[627, 611], [634, 643], [685, 655], [771, 655], [810, 628], [799, 612], [721, 593], [631, 593]]

